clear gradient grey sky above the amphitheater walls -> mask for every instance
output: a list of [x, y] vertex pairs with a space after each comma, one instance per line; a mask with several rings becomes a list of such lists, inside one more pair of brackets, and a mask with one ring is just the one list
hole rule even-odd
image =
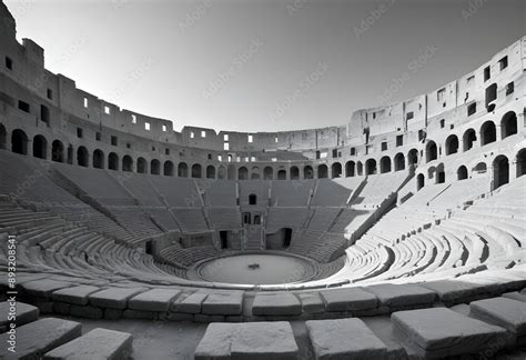
[[463, 76], [525, 33], [522, 0], [4, 2], [49, 70], [176, 130], [345, 124], [356, 109]]

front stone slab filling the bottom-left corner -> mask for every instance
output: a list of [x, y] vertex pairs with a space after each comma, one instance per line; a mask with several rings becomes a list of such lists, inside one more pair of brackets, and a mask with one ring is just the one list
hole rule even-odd
[[71, 341], [82, 333], [79, 322], [47, 318], [17, 329], [17, 352], [7, 346], [9, 333], [0, 336], [0, 359], [40, 359], [45, 352]]

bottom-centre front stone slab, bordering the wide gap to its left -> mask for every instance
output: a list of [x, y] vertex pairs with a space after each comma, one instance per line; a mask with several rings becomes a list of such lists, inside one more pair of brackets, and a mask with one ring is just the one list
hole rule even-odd
[[211, 323], [198, 344], [195, 360], [296, 359], [299, 348], [286, 321]]

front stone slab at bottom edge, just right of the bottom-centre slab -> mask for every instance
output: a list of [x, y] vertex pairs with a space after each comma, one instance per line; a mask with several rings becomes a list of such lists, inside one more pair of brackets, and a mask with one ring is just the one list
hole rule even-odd
[[316, 359], [387, 359], [387, 347], [360, 319], [306, 321]]

